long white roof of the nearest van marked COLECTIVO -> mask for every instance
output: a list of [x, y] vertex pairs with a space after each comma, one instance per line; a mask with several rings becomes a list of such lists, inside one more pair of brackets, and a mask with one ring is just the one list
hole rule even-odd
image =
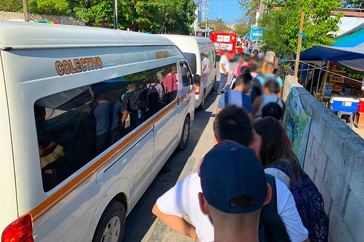
[[124, 30], [0, 21], [0, 45], [16, 49], [173, 45], [162, 36]]

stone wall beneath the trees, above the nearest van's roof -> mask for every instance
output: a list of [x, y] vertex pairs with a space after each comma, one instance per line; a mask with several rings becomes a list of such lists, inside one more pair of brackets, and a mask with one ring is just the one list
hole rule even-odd
[[[24, 14], [0, 11], [0, 20], [11, 20], [11, 19], [14, 19], [14, 20], [24, 19]], [[31, 20], [34, 22], [38, 21], [38, 20], [48, 20], [48, 21], [60, 23], [62, 25], [85, 26], [84, 20], [72, 18], [72, 17], [66, 17], [66, 16], [31, 14]]]

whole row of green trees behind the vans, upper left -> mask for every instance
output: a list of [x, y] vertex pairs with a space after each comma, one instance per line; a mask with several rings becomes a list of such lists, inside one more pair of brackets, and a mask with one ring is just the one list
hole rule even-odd
[[[94, 26], [114, 27], [114, 0], [28, 0], [30, 13], [74, 16]], [[22, 11], [22, 0], [0, 0], [0, 11]], [[133, 31], [189, 34], [194, 0], [118, 0], [118, 27]]]

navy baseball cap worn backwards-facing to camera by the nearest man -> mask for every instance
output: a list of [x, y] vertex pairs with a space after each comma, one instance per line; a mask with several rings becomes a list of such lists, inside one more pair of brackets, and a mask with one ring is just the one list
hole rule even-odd
[[[201, 188], [209, 205], [227, 214], [246, 214], [263, 207], [267, 180], [262, 164], [253, 150], [225, 140], [215, 145], [199, 166]], [[237, 196], [255, 199], [247, 207], [232, 206]]]

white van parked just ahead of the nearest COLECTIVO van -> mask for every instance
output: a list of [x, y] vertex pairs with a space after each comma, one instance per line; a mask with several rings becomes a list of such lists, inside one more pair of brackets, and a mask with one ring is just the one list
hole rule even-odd
[[[212, 41], [205, 37], [161, 34], [170, 39], [186, 56], [192, 74], [201, 77], [200, 82], [196, 82], [195, 108], [202, 110], [205, 98], [211, 91], [214, 91], [216, 84], [216, 52]], [[202, 55], [206, 58], [207, 68], [203, 71]]]

